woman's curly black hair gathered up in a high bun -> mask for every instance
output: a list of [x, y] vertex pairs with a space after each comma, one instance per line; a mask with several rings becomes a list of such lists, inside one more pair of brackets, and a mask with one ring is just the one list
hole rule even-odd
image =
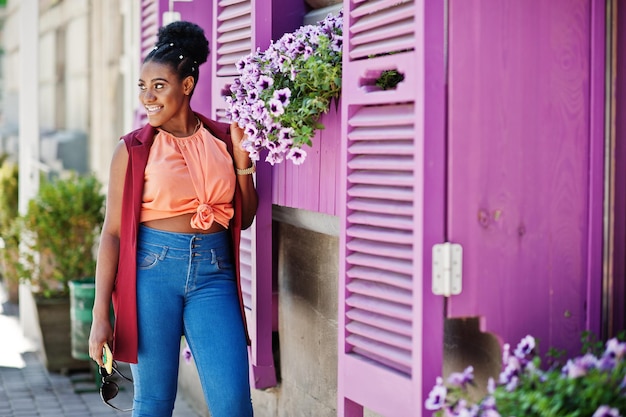
[[169, 65], [181, 80], [191, 75], [198, 84], [198, 67], [209, 56], [209, 41], [204, 29], [192, 22], [172, 22], [159, 29], [154, 48], [143, 60]]

